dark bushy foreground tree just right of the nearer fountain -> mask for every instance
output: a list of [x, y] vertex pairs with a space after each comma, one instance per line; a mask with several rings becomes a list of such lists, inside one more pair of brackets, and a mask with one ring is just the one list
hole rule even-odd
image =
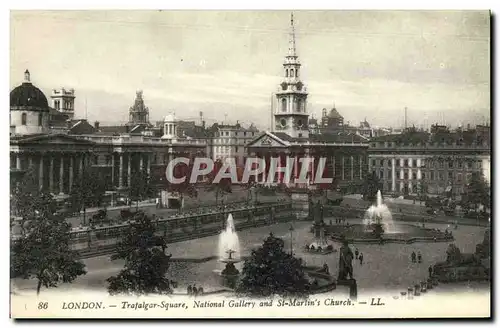
[[310, 283], [302, 260], [284, 250], [284, 242], [271, 233], [245, 261], [237, 292], [248, 296], [306, 296]]

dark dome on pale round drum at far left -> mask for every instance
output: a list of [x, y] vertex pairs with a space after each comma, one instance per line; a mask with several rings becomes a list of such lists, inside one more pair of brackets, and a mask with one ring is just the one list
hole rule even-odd
[[10, 92], [10, 129], [13, 134], [46, 133], [49, 104], [43, 92], [31, 83], [30, 72], [24, 82]]

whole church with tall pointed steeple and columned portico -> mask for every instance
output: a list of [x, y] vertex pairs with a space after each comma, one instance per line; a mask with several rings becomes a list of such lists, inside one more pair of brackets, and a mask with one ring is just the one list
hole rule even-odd
[[[286, 157], [294, 158], [294, 169], [291, 188], [316, 188], [315, 173], [319, 158], [326, 158], [323, 177], [333, 178], [338, 188], [355, 188], [359, 185], [368, 168], [365, 139], [354, 133], [315, 133], [309, 129], [309, 113], [307, 109], [308, 92], [301, 80], [301, 64], [295, 47], [295, 31], [293, 16], [289, 50], [283, 63], [283, 81], [280, 92], [276, 93], [279, 106], [274, 108], [275, 124], [271, 132], [265, 132], [247, 144], [249, 156], [264, 158], [266, 168], [270, 158], [280, 158], [280, 164], [286, 163]], [[338, 123], [338, 122], [337, 122]], [[317, 121], [316, 121], [317, 124]], [[301, 170], [300, 158], [310, 158], [312, 165], [307, 169], [308, 181], [305, 184], [295, 184], [293, 178], [298, 177]], [[275, 183], [281, 183], [283, 174], [272, 177]], [[269, 181], [268, 172], [257, 177], [260, 183]]]

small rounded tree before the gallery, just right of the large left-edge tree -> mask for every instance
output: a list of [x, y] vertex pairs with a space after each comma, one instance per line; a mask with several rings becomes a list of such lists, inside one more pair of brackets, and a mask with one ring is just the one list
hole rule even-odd
[[83, 211], [84, 224], [87, 208], [100, 207], [105, 192], [105, 182], [95, 168], [84, 167], [82, 175], [73, 181], [69, 201], [74, 211]]

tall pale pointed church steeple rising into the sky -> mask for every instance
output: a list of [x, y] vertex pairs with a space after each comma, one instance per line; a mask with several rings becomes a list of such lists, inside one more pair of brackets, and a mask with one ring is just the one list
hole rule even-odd
[[293, 138], [308, 138], [307, 90], [300, 80], [300, 62], [295, 48], [293, 14], [290, 20], [288, 54], [283, 63], [284, 79], [276, 93], [278, 105], [274, 111], [274, 130]]

